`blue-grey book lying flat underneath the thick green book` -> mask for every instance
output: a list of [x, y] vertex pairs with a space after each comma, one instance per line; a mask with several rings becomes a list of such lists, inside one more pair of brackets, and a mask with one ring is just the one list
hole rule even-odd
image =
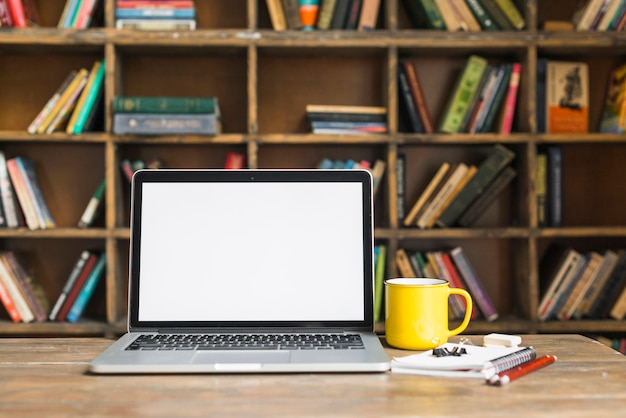
[[218, 135], [221, 118], [215, 113], [116, 113], [113, 132], [117, 135]]

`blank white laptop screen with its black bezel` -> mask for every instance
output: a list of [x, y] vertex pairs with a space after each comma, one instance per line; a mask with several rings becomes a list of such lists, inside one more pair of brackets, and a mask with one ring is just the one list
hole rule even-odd
[[131, 323], [371, 322], [367, 172], [149, 170], [133, 195]]

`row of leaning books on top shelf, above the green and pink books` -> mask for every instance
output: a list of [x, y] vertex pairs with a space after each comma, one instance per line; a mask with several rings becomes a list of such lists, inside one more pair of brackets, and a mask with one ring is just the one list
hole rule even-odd
[[417, 28], [457, 31], [522, 30], [523, 13], [513, 0], [403, 0]]

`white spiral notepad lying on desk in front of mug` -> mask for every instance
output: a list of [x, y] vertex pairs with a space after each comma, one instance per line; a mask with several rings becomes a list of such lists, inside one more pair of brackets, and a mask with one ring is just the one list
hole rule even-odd
[[[441, 348], [452, 351], [459, 344], [446, 343]], [[421, 374], [442, 377], [488, 379], [496, 373], [518, 366], [536, 357], [532, 347], [481, 347], [462, 345], [467, 354], [437, 357], [433, 350], [391, 361], [393, 373]]]

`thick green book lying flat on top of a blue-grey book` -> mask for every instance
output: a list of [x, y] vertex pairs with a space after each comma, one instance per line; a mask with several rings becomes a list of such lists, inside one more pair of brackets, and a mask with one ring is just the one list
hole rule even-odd
[[216, 97], [116, 96], [114, 113], [216, 113]]

